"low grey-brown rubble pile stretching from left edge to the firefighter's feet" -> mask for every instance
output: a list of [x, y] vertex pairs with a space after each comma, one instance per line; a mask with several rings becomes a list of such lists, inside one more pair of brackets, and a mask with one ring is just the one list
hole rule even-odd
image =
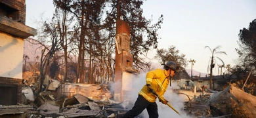
[[93, 100], [81, 94], [57, 100], [51, 92], [41, 92], [28, 105], [0, 106], [0, 117], [119, 117], [126, 112], [120, 104], [108, 98]]

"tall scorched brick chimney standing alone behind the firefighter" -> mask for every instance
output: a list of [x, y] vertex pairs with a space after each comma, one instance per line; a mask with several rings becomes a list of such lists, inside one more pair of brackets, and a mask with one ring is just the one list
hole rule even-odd
[[133, 81], [133, 55], [130, 53], [130, 27], [123, 20], [116, 23], [116, 67], [115, 67], [115, 94], [114, 99], [123, 101], [125, 92], [131, 90], [129, 83]]

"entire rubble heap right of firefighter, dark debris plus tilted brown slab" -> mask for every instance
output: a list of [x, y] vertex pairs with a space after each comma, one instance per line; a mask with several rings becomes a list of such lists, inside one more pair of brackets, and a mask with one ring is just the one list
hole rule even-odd
[[184, 108], [193, 117], [237, 117], [256, 115], [256, 97], [230, 84], [223, 91], [207, 93], [185, 102]]

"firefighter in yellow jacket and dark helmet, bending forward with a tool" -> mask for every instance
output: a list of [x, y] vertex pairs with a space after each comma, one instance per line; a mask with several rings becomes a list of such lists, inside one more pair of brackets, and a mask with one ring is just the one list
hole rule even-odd
[[148, 111], [150, 118], [158, 117], [158, 105], [156, 104], [157, 96], [152, 93], [156, 92], [159, 95], [160, 102], [162, 104], [167, 104], [167, 100], [163, 98], [163, 94], [167, 90], [168, 84], [171, 83], [171, 77], [173, 77], [178, 69], [175, 62], [167, 62], [167, 64], [162, 64], [163, 69], [154, 69], [146, 73], [146, 85], [144, 85], [139, 96], [132, 109], [127, 111], [122, 117], [136, 117], [144, 109]]

